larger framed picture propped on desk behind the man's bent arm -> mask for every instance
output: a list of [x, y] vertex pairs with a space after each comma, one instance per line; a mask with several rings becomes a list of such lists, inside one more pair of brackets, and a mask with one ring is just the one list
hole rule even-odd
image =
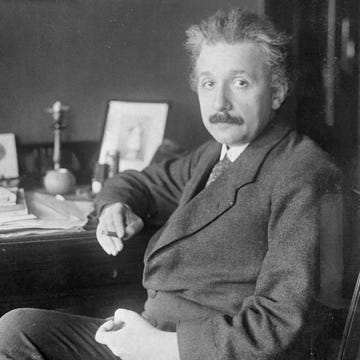
[[161, 145], [169, 105], [111, 100], [108, 103], [99, 164], [110, 164], [119, 152], [119, 170], [142, 170]]

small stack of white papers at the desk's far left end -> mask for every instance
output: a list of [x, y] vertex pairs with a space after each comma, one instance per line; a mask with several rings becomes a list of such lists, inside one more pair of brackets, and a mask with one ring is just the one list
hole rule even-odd
[[0, 187], [0, 225], [35, 218], [29, 214], [23, 189]]

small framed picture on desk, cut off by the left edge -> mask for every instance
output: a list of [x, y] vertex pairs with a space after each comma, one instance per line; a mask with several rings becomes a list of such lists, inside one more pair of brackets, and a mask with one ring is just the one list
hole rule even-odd
[[19, 177], [14, 134], [0, 134], [0, 180]]

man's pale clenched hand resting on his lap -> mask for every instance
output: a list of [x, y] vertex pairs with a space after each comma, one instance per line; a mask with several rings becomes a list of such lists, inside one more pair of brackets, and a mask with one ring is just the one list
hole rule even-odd
[[176, 333], [161, 331], [130, 310], [116, 310], [95, 340], [122, 360], [180, 360]]

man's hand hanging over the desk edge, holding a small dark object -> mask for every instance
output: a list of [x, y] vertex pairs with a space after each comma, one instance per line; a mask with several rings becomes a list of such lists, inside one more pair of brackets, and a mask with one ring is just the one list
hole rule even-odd
[[[123, 240], [137, 234], [144, 227], [144, 222], [129, 206], [122, 203], [107, 205], [100, 214], [96, 237], [109, 255], [117, 255], [124, 247]], [[109, 236], [108, 232], [117, 236]]]

